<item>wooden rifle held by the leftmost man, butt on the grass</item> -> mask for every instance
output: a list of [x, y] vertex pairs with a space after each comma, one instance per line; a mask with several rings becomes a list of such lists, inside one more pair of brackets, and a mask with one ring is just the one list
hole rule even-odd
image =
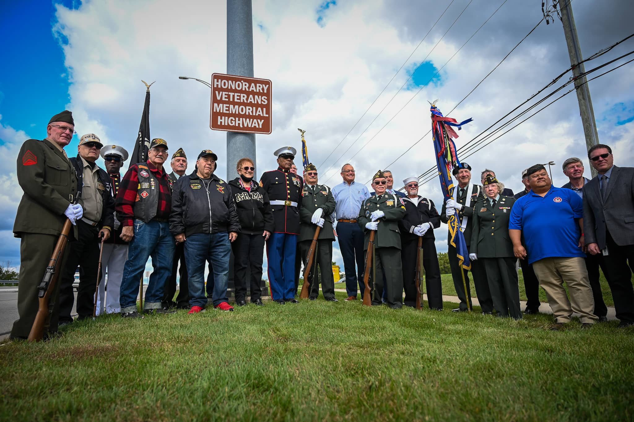
[[44, 278], [37, 287], [37, 297], [39, 298], [39, 309], [37, 309], [36, 319], [33, 321], [31, 332], [29, 333], [29, 342], [39, 342], [44, 337], [44, 325], [49, 318], [48, 302], [55, 290], [55, 283], [60, 276], [61, 259], [64, 256], [64, 250], [68, 243], [68, 233], [72, 224], [70, 220], [66, 219], [64, 226], [61, 229], [60, 237], [51, 255], [51, 260], [48, 262], [46, 272], [44, 272]]

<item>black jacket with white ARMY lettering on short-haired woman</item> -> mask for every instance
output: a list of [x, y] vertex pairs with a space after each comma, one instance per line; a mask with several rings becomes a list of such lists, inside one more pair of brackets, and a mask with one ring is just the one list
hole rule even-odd
[[273, 211], [264, 188], [254, 181], [251, 190], [247, 191], [240, 184], [240, 177], [230, 181], [229, 186], [238, 208], [240, 233], [262, 234], [264, 230], [273, 233]]

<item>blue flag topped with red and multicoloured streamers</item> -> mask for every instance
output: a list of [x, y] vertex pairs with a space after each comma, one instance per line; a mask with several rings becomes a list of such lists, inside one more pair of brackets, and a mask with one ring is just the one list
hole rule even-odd
[[[432, 134], [434, 137], [434, 150], [436, 151], [436, 166], [444, 200], [447, 201], [448, 199], [453, 199], [453, 191], [455, 189], [451, 179], [451, 172], [460, 165], [460, 160], [458, 160], [458, 154], [456, 153], [456, 145], [452, 140], [452, 138], [458, 137], [458, 134], [453, 130], [453, 127], [457, 127], [459, 131], [462, 125], [469, 123], [472, 119], [469, 118], [458, 123], [455, 118], [443, 117], [443, 113], [436, 107], [436, 101], [431, 105], [430, 111], [432, 112]], [[471, 269], [469, 251], [467, 250], [465, 236], [462, 233], [460, 216], [456, 212], [448, 220], [447, 225], [451, 234], [451, 246], [456, 248], [460, 265], [464, 269]]]

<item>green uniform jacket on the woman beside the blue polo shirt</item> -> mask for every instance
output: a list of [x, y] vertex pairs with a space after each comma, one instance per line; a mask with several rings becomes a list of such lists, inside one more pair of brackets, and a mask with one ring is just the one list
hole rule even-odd
[[478, 258], [514, 257], [513, 243], [508, 236], [508, 219], [514, 198], [500, 196], [491, 208], [489, 198], [475, 203], [471, 217], [470, 253], [477, 253]]

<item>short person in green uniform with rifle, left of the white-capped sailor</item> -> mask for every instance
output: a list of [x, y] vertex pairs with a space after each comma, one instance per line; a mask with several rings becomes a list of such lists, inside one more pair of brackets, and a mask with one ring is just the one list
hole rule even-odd
[[[372, 177], [372, 188], [376, 195], [363, 201], [357, 218], [359, 227], [365, 233], [365, 250], [368, 249], [370, 233], [376, 231], [372, 274], [377, 276], [372, 280], [375, 286], [372, 289], [372, 305], [382, 303], [381, 296], [385, 288], [387, 305], [392, 309], [400, 309], [403, 307], [403, 267], [398, 222], [405, 216], [405, 206], [398, 195], [385, 193], [387, 180], [381, 170]], [[385, 286], [381, 274], [385, 274]]]

